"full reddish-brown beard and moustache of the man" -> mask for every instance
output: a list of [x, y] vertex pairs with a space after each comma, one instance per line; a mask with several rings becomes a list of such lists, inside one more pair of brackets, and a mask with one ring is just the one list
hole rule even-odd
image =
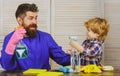
[[[35, 29], [31, 29], [31, 28], [35, 28]], [[36, 24], [31, 24], [28, 27], [25, 27], [25, 30], [26, 30], [26, 35], [28, 37], [30, 37], [30, 38], [36, 37], [36, 31], [37, 31], [37, 25]]]

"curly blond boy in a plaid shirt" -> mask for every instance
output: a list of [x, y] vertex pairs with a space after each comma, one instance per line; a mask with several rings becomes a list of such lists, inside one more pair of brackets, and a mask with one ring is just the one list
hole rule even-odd
[[80, 52], [81, 65], [96, 64], [101, 66], [102, 45], [109, 31], [109, 24], [105, 19], [92, 18], [85, 22], [87, 39], [80, 46], [75, 41], [70, 45]]

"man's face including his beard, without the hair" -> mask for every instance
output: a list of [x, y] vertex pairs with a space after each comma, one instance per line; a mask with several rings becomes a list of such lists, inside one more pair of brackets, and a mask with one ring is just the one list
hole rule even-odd
[[31, 38], [36, 37], [37, 12], [26, 12], [26, 16], [22, 20], [22, 26], [24, 26], [26, 30], [26, 35]]

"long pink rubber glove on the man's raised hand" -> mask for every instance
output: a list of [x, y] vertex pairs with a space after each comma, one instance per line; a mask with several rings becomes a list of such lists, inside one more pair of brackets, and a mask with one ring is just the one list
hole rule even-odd
[[20, 28], [20, 29], [15, 30], [15, 32], [13, 33], [12, 37], [10, 38], [10, 40], [6, 46], [5, 52], [7, 54], [11, 54], [11, 55], [14, 54], [14, 50], [15, 50], [17, 43], [21, 39], [23, 39], [25, 33], [26, 33], [26, 31], [24, 28]]

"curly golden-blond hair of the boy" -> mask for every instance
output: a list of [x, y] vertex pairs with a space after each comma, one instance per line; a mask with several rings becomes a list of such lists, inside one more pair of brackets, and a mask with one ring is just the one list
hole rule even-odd
[[94, 33], [99, 34], [98, 39], [104, 42], [109, 31], [109, 24], [107, 20], [96, 17], [89, 19], [84, 23], [84, 25], [87, 29], [90, 28]]

